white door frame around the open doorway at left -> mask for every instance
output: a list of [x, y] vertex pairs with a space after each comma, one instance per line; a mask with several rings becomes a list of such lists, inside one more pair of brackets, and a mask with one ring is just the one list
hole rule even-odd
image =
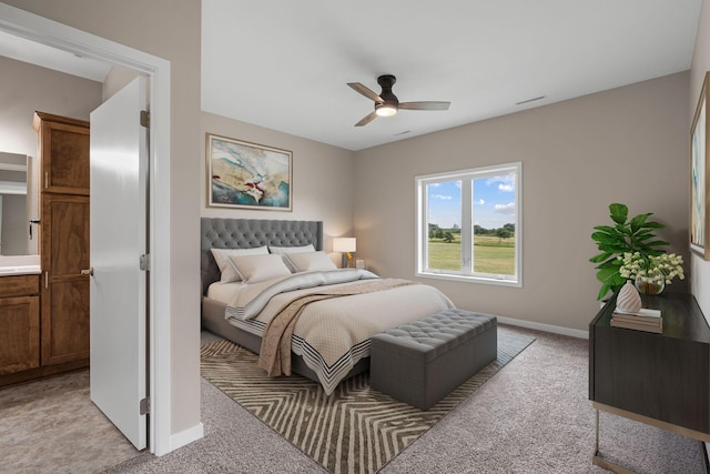
[[[170, 61], [97, 37], [57, 21], [0, 3], [0, 30], [38, 43], [98, 59], [149, 78], [150, 180], [148, 284], [148, 359], [150, 413], [149, 448], [161, 456], [194, 440], [172, 442], [170, 331]], [[136, 255], [136, 262], [138, 262]]]

